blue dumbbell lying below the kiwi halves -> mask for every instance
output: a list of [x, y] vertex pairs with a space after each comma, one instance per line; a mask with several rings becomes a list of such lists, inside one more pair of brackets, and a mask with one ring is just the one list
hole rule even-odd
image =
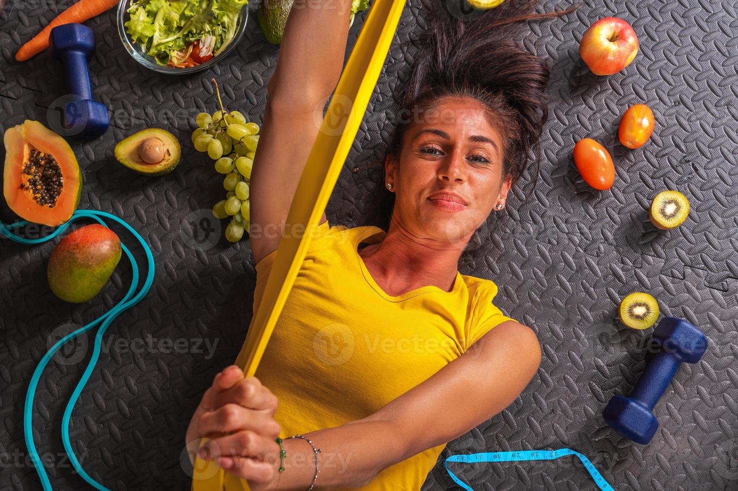
[[707, 349], [705, 333], [675, 317], [664, 317], [658, 323], [652, 342], [658, 352], [630, 397], [613, 396], [602, 413], [605, 422], [618, 433], [641, 444], [650, 442], [658, 430], [658, 420], [652, 411], [680, 363], [697, 363]]

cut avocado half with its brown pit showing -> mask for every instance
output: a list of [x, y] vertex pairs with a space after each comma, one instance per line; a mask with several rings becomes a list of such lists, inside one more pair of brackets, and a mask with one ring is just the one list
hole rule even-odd
[[[164, 159], [156, 164], [148, 164], [139, 157], [139, 146], [149, 138], [162, 140], [165, 146]], [[169, 131], [161, 128], [148, 128], [132, 134], [115, 145], [115, 158], [118, 162], [139, 174], [147, 176], [163, 176], [169, 174], [179, 164], [182, 148], [179, 141]]]

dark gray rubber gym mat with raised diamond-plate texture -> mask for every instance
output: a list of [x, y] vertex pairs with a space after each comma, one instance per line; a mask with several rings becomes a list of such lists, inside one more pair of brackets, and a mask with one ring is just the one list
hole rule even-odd
[[[23, 64], [13, 55], [68, 4], [8, 0], [0, 13], [3, 130], [25, 119], [46, 122], [47, 108], [53, 111], [64, 94], [60, 66], [47, 54]], [[108, 330], [109, 353], [72, 416], [83, 466], [114, 490], [188, 489], [184, 430], [214, 374], [235, 359], [252, 315], [255, 273], [247, 241], [227, 244], [214, 221], [218, 230], [199, 231], [202, 244], [181, 230], [209, 216], [223, 194], [210, 160], [193, 150], [189, 137], [195, 115], [215, 110], [210, 78], [224, 87], [227, 107], [261, 123], [277, 48], [263, 40], [254, 7], [236, 52], [212, 72], [182, 78], [138, 66], [120, 45], [114, 13], [89, 22], [98, 41], [94, 92], [111, 109], [114, 127], [74, 146], [86, 179], [80, 208], [131, 222], [153, 247], [158, 268], [150, 295]], [[641, 51], [624, 72], [598, 78], [579, 61], [578, 45], [587, 26], [605, 16], [630, 21]], [[531, 179], [523, 179], [506, 211], [469, 245], [461, 270], [497, 282], [497, 304], [537, 331], [543, 361], [506, 411], [449, 444], [424, 490], [459, 489], [443, 467], [452, 453], [559, 447], [584, 453], [617, 490], [738, 489], [737, 17], [732, 0], [587, 0], [567, 18], [531, 24], [525, 43], [551, 59], [553, 72], [542, 180], [531, 193]], [[364, 18], [357, 17], [351, 43]], [[422, 25], [418, 1], [410, 1], [329, 205], [331, 223], [376, 223], [368, 203], [379, 168], [371, 165], [393, 126], [392, 94], [414, 50], [408, 35]], [[640, 102], [654, 110], [657, 129], [647, 145], [630, 151], [616, 145], [615, 135], [624, 109]], [[169, 128], [184, 144], [184, 162], [173, 174], [146, 178], [114, 160], [114, 144], [147, 126]], [[584, 136], [613, 154], [618, 177], [609, 192], [588, 190], [573, 170], [571, 148]], [[644, 210], [666, 188], [686, 193], [692, 213], [677, 230], [656, 234], [644, 225]], [[14, 219], [4, 207], [0, 217]], [[51, 244], [3, 240], [0, 250], [0, 489], [35, 490], [41, 486], [22, 432], [35, 365], [70, 322], [83, 325], [113, 305], [130, 268], [121, 261], [102, 301], [72, 306], [46, 285]], [[680, 368], [655, 410], [661, 428], [646, 446], [621, 438], [601, 419], [610, 396], [630, 391], [644, 368], [649, 332], [614, 320], [620, 299], [635, 290], [651, 292], [665, 315], [686, 318], [711, 343], [700, 363]], [[166, 348], [161, 340], [184, 348]], [[64, 456], [60, 428], [91, 341], [49, 365], [36, 397], [36, 444], [59, 490], [88, 487]], [[451, 468], [475, 490], [595, 488], [572, 458]]]

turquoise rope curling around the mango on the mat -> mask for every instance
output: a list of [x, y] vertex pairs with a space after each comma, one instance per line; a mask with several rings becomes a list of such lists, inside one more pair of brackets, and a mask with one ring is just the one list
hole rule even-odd
[[33, 376], [31, 377], [31, 382], [26, 393], [26, 402], [23, 413], [23, 433], [26, 439], [28, 453], [30, 454], [31, 461], [33, 462], [33, 467], [35, 467], [36, 473], [38, 473], [38, 477], [41, 479], [41, 485], [44, 487], [44, 491], [51, 491], [52, 486], [51, 482], [49, 481], [49, 476], [46, 474], [46, 469], [44, 468], [41, 458], [38, 456], [38, 450], [36, 450], [35, 442], [33, 441], [33, 398], [35, 396], [36, 388], [38, 387], [38, 381], [41, 379], [41, 374], [44, 372], [44, 368], [46, 368], [46, 365], [49, 364], [49, 361], [51, 361], [52, 357], [56, 354], [57, 351], [61, 349], [62, 346], [64, 346], [70, 340], [75, 339], [75, 337], [88, 332], [89, 330], [94, 328], [94, 326], [97, 326], [97, 324], [100, 323], [100, 329], [97, 330], [97, 334], [95, 335], [94, 339], [94, 349], [92, 352], [92, 357], [90, 357], [87, 368], [80, 378], [80, 381], [77, 383], [77, 387], [72, 393], [72, 396], [70, 397], [69, 402], [66, 405], [66, 409], [64, 410], [61, 425], [61, 439], [64, 444], [64, 450], [66, 450], [66, 453], [69, 455], [69, 461], [72, 462], [72, 466], [75, 467], [77, 473], [95, 489], [101, 491], [111, 491], [107, 487], [104, 487], [103, 484], [95, 481], [82, 468], [79, 459], [77, 459], [77, 456], [75, 455], [75, 450], [72, 448], [71, 439], [69, 439], [69, 419], [72, 418], [72, 411], [74, 411], [75, 409], [77, 399], [79, 399], [79, 396], [82, 393], [85, 385], [89, 381], [89, 377], [92, 374], [95, 365], [97, 365], [97, 360], [100, 358], [101, 346], [103, 344], [103, 335], [105, 334], [106, 329], [108, 329], [108, 326], [110, 326], [110, 324], [113, 322], [113, 320], [115, 320], [116, 317], [118, 317], [118, 315], [139, 303], [139, 301], [144, 298], [146, 293], [148, 293], [149, 289], [151, 289], [151, 284], [154, 283], [154, 254], [151, 253], [151, 247], [148, 247], [146, 241], [142, 238], [142, 236], [139, 235], [136, 230], [134, 230], [133, 227], [131, 227], [131, 225], [124, 222], [122, 219], [119, 219], [117, 216], [111, 215], [110, 213], [105, 213], [103, 211], [77, 210], [68, 222], [61, 225], [61, 227], [58, 227], [54, 232], [43, 238], [24, 238], [10, 232], [10, 230], [13, 230], [15, 228], [24, 227], [28, 224], [28, 222], [18, 222], [8, 227], [0, 222], [0, 236], [10, 238], [10, 240], [18, 242], [19, 244], [32, 245], [43, 244], [44, 242], [52, 240], [56, 236], [59, 236], [61, 233], [63, 233], [63, 231], [66, 230], [69, 225], [79, 219], [92, 219], [100, 223], [104, 227], [108, 227], [108, 225], [103, 222], [103, 218], [112, 220], [122, 225], [136, 238], [146, 254], [148, 271], [141, 289], [139, 289], [138, 293], [134, 295], [134, 292], [136, 292], [136, 289], [139, 286], [139, 267], [137, 261], [134, 258], [134, 255], [131, 254], [131, 251], [128, 250], [128, 247], [125, 247], [125, 244], [123, 244], [123, 241], [121, 241], [121, 248], [123, 249], [125, 255], [128, 256], [128, 261], [131, 262], [131, 269], [133, 272], [133, 278], [131, 278], [131, 287], [128, 289], [128, 292], [126, 292], [125, 296], [112, 309], [108, 310], [108, 312], [101, 315], [100, 317], [97, 317], [97, 319], [93, 320], [86, 326], [77, 329], [75, 332], [71, 332], [62, 337], [61, 340], [58, 340], [58, 342], [55, 343], [55, 345], [52, 346], [52, 348], [50, 348], [49, 351], [46, 352], [46, 354], [44, 354], [44, 357], [41, 358], [41, 361], [38, 363], [38, 366], [33, 372]]

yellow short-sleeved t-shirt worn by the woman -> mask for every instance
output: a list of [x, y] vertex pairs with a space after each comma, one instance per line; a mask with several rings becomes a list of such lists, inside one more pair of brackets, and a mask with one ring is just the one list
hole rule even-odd
[[[282, 437], [375, 413], [510, 320], [492, 303], [497, 285], [460, 272], [451, 292], [422, 286], [387, 295], [357, 250], [362, 242], [382, 240], [378, 227], [325, 222], [313, 237], [255, 374], [279, 399], [275, 419]], [[254, 311], [275, 255], [256, 265]], [[248, 357], [245, 346], [235, 361], [241, 367]], [[417, 491], [445, 446], [387, 467], [359, 489]], [[248, 490], [239, 481], [225, 473], [226, 490]]]

